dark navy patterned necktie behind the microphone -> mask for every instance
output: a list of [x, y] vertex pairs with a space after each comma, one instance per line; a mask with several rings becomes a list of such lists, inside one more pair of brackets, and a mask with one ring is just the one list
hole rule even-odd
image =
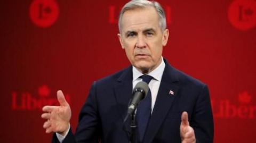
[[[149, 83], [153, 77], [150, 75], [141, 75], [142, 81]], [[144, 138], [145, 131], [147, 129], [148, 121], [151, 116], [151, 92], [148, 90], [147, 96], [141, 100], [137, 108], [137, 123], [139, 131], [139, 140], [142, 142]]]

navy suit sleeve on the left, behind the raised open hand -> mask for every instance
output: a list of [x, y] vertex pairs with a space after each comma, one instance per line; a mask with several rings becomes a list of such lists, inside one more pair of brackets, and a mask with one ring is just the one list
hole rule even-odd
[[[71, 128], [62, 143], [99, 143], [101, 136], [101, 122], [98, 114], [98, 102], [96, 94], [96, 82], [93, 83], [89, 96], [79, 113], [79, 122], [75, 135]], [[53, 143], [59, 143], [55, 133]]]

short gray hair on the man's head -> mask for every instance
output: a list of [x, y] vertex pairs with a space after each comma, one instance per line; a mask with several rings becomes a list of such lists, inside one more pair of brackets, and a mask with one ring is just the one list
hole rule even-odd
[[119, 19], [118, 19], [119, 32], [121, 33], [121, 29], [122, 29], [121, 22], [122, 22], [124, 12], [133, 10], [133, 9], [138, 9], [138, 8], [145, 9], [148, 6], [152, 6], [155, 8], [159, 18], [159, 27], [161, 28], [162, 31], [164, 31], [166, 29], [166, 16], [165, 16], [164, 9], [158, 2], [147, 1], [147, 0], [132, 0], [124, 5], [124, 7], [122, 8], [119, 14]]

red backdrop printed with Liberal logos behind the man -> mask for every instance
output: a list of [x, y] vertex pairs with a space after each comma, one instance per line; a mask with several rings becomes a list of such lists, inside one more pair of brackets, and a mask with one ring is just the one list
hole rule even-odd
[[[68, 97], [76, 128], [90, 86], [129, 61], [117, 38], [127, 1], [0, 2], [0, 142], [50, 142], [43, 105]], [[256, 1], [159, 1], [170, 30], [164, 57], [210, 88], [214, 142], [254, 142]]]

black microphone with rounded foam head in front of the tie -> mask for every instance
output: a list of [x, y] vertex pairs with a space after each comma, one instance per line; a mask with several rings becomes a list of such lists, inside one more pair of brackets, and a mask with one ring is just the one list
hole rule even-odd
[[132, 91], [133, 96], [128, 106], [127, 115], [130, 115], [135, 111], [139, 102], [146, 97], [148, 90], [149, 87], [146, 82], [140, 81], [137, 83], [137, 85], [134, 87]]

